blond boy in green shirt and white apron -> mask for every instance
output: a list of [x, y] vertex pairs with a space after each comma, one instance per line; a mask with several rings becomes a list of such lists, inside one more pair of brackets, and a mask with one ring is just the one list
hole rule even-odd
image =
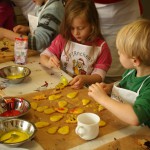
[[[128, 70], [120, 82], [89, 87], [89, 96], [130, 125], [144, 123], [150, 127], [149, 39], [150, 20], [124, 26], [117, 35], [116, 46], [120, 62]], [[111, 97], [107, 95], [110, 92]]]

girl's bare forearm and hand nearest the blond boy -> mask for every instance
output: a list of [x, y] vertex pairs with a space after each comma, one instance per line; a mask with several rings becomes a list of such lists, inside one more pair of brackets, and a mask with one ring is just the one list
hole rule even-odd
[[69, 84], [74, 89], [80, 89], [83, 88], [83, 86], [85, 86], [86, 84], [90, 85], [96, 82], [102, 82], [102, 78], [98, 74], [78, 75], [74, 77]]

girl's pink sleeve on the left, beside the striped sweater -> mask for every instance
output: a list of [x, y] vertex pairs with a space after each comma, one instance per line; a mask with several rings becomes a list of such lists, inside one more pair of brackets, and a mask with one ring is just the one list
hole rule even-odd
[[65, 46], [65, 39], [59, 34], [48, 47], [48, 50], [57, 56], [58, 59], [61, 57], [61, 53]]

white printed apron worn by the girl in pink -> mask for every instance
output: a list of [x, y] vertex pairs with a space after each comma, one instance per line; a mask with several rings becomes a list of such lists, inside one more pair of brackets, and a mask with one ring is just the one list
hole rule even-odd
[[71, 76], [91, 74], [100, 52], [100, 47], [70, 42], [61, 55], [63, 70]]

